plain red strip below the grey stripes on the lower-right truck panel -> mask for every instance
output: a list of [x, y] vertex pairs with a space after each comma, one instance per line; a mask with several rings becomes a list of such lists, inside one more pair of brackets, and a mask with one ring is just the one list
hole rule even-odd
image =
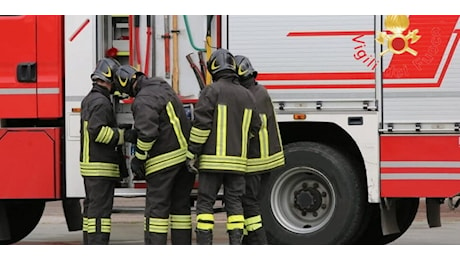
[[460, 190], [460, 180], [382, 180], [382, 197], [449, 198]]

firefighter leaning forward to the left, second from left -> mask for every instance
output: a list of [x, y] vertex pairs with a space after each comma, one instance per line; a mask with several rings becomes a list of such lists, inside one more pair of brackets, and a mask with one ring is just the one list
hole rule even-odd
[[190, 120], [178, 95], [162, 78], [147, 77], [129, 65], [116, 73], [120, 93], [132, 103], [137, 131], [131, 169], [147, 182], [144, 243], [192, 244], [190, 193], [195, 174], [185, 167]]

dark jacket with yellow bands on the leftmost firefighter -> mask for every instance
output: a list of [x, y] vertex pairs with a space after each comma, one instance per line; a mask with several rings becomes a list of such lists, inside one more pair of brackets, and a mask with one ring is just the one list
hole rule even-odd
[[84, 177], [120, 177], [117, 146], [123, 144], [123, 129], [117, 126], [110, 92], [93, 83], [81, 102], [80, 172]]

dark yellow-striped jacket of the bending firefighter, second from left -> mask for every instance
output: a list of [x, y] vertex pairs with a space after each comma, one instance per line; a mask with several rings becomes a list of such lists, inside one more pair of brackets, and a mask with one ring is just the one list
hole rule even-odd
[[140, 76], [131, 109], [138, 133], [135, 156], [146, 160], [146, 176], [185, 162], [190, 122], [166, 81]]

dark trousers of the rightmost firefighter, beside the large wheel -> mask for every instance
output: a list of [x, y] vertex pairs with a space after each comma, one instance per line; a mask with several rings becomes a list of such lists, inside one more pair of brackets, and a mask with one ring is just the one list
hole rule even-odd
[[267, 237], [262, 224], [262, 215], [260, 210], [260, 188], [263, 177], [268, 174], [250, 174], [246, 175], [246, 191], [243, 195], [243, 209], [245, 219], [245, 235], [243, 244], [248, 245], [266, 245]]

